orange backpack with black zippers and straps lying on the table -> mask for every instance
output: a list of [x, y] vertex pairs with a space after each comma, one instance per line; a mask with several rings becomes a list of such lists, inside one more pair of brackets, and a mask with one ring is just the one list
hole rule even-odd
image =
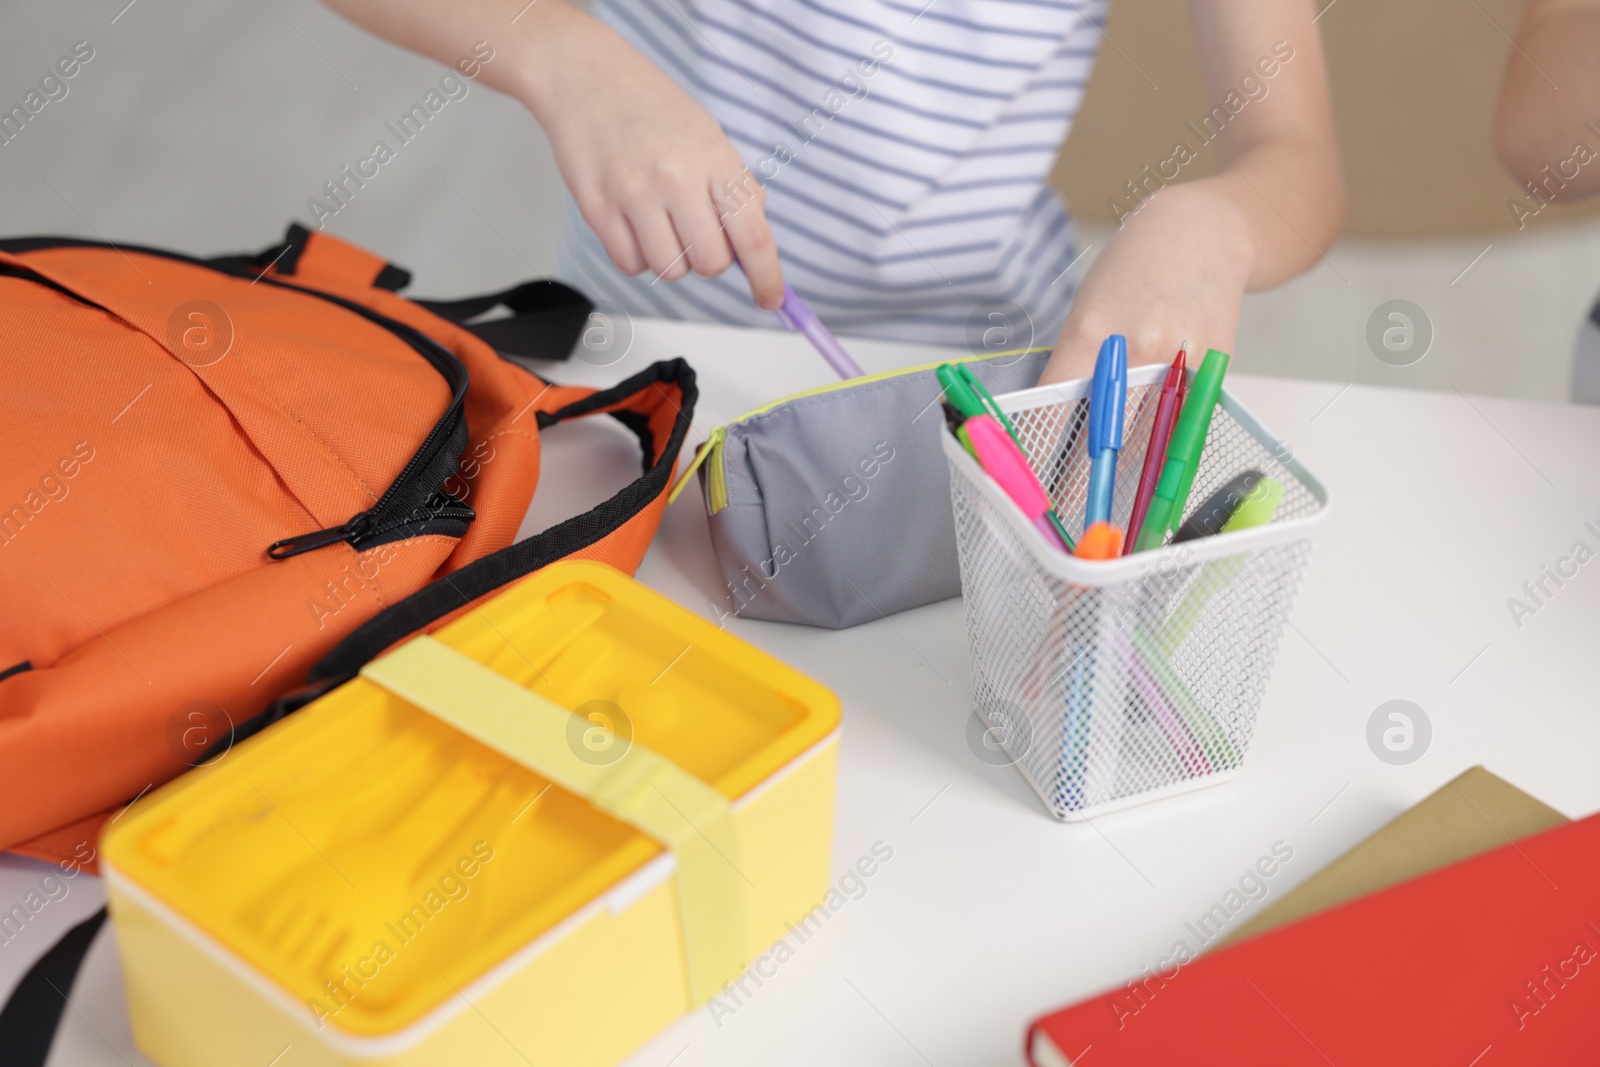
[[[0, 240], [0, 849], [80, 862], [110, 809], [394, 641], [563, 557], [638, 566], [688, 365], [546, 382], [496, 347], [563, 358], [581, 294], [406, 282], [301, 227], [254, 259]], [[589, 414], [645, 474], [512, 544], [539, 432]]]

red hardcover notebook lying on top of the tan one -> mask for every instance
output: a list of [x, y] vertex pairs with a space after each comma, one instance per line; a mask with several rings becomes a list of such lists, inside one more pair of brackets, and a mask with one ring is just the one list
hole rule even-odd
[[1027, 1051], [1035, 1067], [1600, 1064], [1600, 816], [1174, 961], [1038, 1019]]

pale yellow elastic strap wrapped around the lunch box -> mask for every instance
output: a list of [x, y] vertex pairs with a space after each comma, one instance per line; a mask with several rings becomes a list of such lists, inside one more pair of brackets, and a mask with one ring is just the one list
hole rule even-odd
[[747, 878], [726, 797], [637, 742], [608, 766], [579, 758], [570, 710], [432, 637], [374, 659], [362, 677], [669, 848], [693, 1006], [744, 971]]

